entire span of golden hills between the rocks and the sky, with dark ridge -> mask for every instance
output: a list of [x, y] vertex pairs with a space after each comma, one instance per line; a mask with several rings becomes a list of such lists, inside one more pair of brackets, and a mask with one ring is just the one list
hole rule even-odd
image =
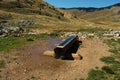
[[81, 28], [119, 28], [120, 7], [83, 8], [62, 10], [43, 0], [1, 0], [0, 20], [19, 26], [21, 20], [30, 20], [34, 25], [25, 25], [36, 33], [56, 30], [76, 31]]

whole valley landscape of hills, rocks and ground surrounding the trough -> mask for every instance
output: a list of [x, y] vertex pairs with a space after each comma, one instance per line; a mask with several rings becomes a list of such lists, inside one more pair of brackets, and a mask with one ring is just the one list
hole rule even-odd
[[[81, 60], [45, 56], [69, 36]], [[0, 0], [0, 80], [119, 80], [120, 3], [56, 8], [44, 0]]]

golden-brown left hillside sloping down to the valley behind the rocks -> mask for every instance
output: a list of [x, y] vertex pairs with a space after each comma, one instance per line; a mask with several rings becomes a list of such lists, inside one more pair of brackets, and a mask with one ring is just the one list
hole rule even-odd
[[77, 30], [89, 24], [76, 19], [69, 12], [55, 8], [43, 0], [2, 0], [0, 1], [0, 20], [8, 20], [18, 26], [21, 20], [32, 20], [34, 25], [23, 26], [36, 32], [56, 30]]

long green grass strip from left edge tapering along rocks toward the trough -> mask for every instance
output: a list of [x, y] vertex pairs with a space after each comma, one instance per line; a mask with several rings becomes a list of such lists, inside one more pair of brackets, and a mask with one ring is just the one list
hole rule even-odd
[[0, 38], [0, 51], [9, 52], [11, 49], [21, 47], [22, 45], [32, 43], [36, 39], [40, 38], [55, 38], [56, 33], [51, 34], [25, 34], [24, 38], [21, 37], [6, 37]]

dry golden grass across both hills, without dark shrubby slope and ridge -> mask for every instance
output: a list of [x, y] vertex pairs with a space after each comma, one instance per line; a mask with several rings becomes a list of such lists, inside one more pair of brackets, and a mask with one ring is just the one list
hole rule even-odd
[[[120, 16], [117, 14], [119, 7], [88, 13], [78, 10], [67, 12], [54, 8], [51, 5], [47, 5], [47, 3], [44, 3], [43, 1], [38, 2], [46, 5], [46, 8], [41, 11], [44, 13], [47, 12], [52, 16], [40, 15], [37, 13], [21, 14], [19, 12], [15, 12], [14, 10], [9, 12], [9, 10], [4, 9], [0, 10], [0, 15], [3, 16], [3, 19], [8, 18], [8, 20], [14, 22], [18, 22], [20, 20], [33, 20], [37, 25], [31, 26], [32, 28], [30, 29], [37, 30], [38, 32], [52, 32], [54, 30], [76, 31], [84, 27], [120, 28], [120, 21], [118, 21]], [[25, 8], [25, 10], [26, 9], [28, 8]], [[39, 7], [32, 6], [31, 9], [39, 10]], [[78, 16], [77, 18], [75, 18], [74, 13]], [[64, 14], [64, 19], [58, 18], [61, 14]], [[8, 17], [4, 18], [6, 15]]]

